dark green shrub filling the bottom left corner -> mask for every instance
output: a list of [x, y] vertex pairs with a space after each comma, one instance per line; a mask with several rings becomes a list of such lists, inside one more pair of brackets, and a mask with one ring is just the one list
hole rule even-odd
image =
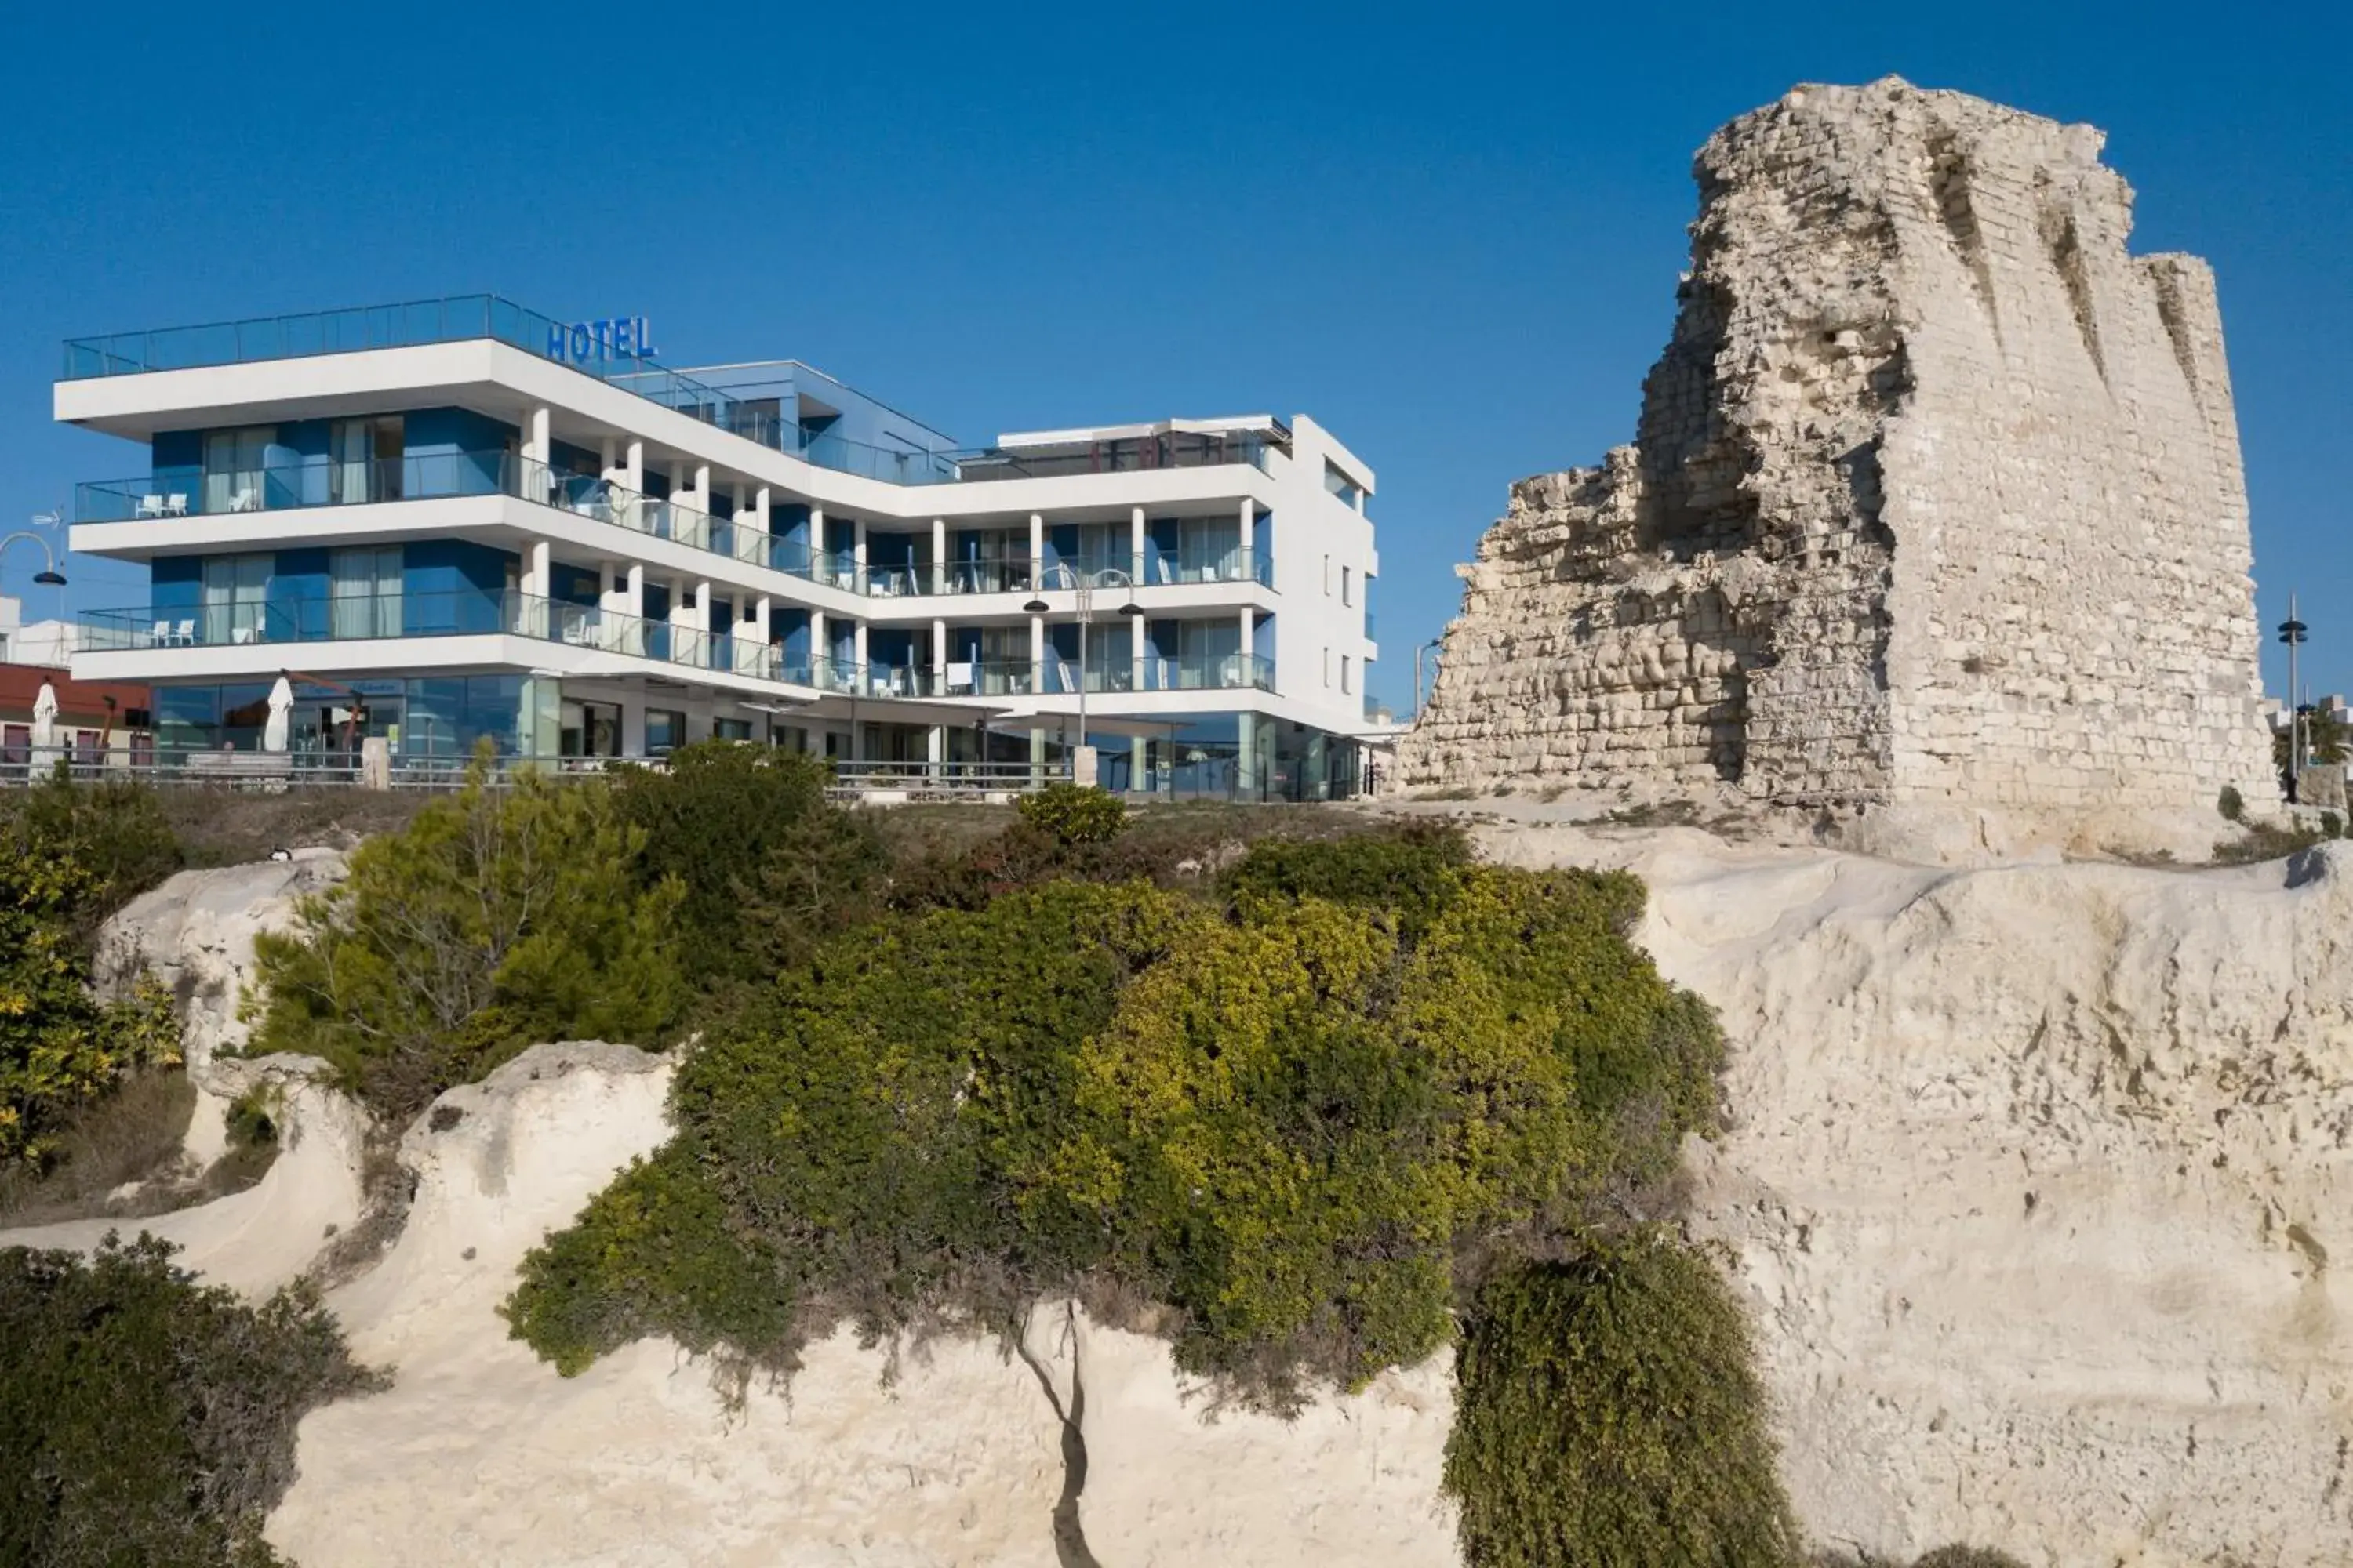
[[296, 1422], [379, 1387], [311, 1293], [247, 1307], [169, 1255], [0, 1251], [0, 1563], [275, 1563]]

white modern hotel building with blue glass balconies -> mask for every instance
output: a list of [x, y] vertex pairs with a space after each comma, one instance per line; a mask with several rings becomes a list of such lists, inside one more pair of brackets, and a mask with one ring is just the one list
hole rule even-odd
[[[1374, 475], [1308, 418], [946, 435], [798, 362], [671, 371], [642, 317], [494, 296], [66, 343], [56, 418], [139, 442], [73, 548], [148, 567], [78, 679], [158, 750], [1059, 769], [1348, 795]], [[125, 463], [129, 465], [129, 463]], [[1080, 715], [1085, 715], [1085, 736]]]

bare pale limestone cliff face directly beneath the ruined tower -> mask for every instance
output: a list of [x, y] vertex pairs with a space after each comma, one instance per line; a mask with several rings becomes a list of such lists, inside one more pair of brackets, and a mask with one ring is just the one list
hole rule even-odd
[[2353, 1561], [2353, 846], [2172, 872], [1485, 830], [1628, 865], [1718, 1006], [1692, 1143], [1817, 1544]]

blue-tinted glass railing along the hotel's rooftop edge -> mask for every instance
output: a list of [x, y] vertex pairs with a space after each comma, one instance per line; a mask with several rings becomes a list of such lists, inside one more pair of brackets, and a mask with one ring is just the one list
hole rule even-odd
[[[1174, 435], [1141, 442], [1106, 442], [1085, 451], [998, 451], [998, 449], [920, 449], [873, 447], [809, 430], [772, 411], [774, 400], [736, 397], [694, 376], [664, 369], [633, 353], [579, 362], [555, 357], [551, 343], [565, 341], [565, 322], [525, 310], [496, 294], [454, 294], [400, 306], [360, 306], [353, 310], [304, 310], [261, 315], [242, 322], [202, 327], [165, 327], [160, 331], [118, 331], [96, 339], [68, 339], [64, 381], [94, 376], [136, 376], [146, 371], [205, 369], [216, 364], [252, 364], [264, 360], [301, 360], [311, 355], [360, 353], [372, 348], [416, 348], [428, 343], [494, 341], [546, 355], [586, 376], [607, 381], [647, 402], [706, 425], [729, 430], [835, 473], [882, 480], [885, 484], [955, 484], [969, 480], [1024, 480], [1068, 473], [1129, 473], [1148, 468], [1198, 468], [1249, 463], [1266, 468], [1268, 442], [1259, 435]], [[819, 378], [824, 381], [824, 378]]]

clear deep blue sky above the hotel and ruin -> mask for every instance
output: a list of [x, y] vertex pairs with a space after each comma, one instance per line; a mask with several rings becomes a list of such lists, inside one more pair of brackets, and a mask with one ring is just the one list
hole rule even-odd
[[2297, 585], [2306, 679], [2353, 686], [2346, 7], [1584, 9], [16, 5], [0, 529], [144, 468], [52, 425], [66, 336], [494, 289], [649, 315], [673, 362], [798, 355], [967, 442], [1313, 414], [1381, 475], [1402, 705], [1504, 487], [1633, 435], [1692, 150], [1901, 73], [2106, 127], [2137, 249], [2214, 261], [2264, 621]]

